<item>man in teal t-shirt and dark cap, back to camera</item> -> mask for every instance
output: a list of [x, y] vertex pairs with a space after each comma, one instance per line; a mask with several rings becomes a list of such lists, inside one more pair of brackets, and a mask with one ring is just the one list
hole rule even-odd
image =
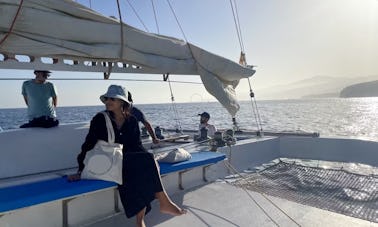
[[50, 71], [35, 70], [35, 79], [22, 84], [22, 95], [28, 107], [29, 122], [20, 128], [51, 128], [59, 124], [56, 119], [57, 92], [53, 83], [46, 81]]

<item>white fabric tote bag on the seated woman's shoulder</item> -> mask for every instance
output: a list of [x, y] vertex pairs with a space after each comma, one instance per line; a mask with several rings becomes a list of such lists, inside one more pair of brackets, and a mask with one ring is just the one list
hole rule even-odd
[[94, 148], [87, 152], [81, 178], [122, 184], [123, 145], [114, 143], [115, 135], [110, 118], [106, 112], [102, 112], [102, 114], [105, 116], [108, 142], [99, 140]]

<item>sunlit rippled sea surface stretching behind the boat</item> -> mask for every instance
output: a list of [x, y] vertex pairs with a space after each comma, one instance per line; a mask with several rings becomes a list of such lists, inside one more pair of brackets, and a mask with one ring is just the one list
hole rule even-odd
[[[242, 101], [237, 114], [240, 128], [256, 130], [250, 101]], [[217, 128], [231, 128], [232, 121], [216, 102], [136, 105], [153, 126], [197, 128], [198, 113], [207, 111]], [[319, 132], [321, 136], [353, 136], [378, 140], [378, 98], [333, 98], [258, 101], [264, 131]], [[103, 106], [58, 107], [61, 123], [90, 121]], [[174, 110], [177, 111], [174, 111]], [[177, 113], [177, 114], [175, 114]], [[26, 108], [0, 109], [2, 130], [18, 128], [27, 121]], [[0, 129], [0, 130], [1, 130]]]

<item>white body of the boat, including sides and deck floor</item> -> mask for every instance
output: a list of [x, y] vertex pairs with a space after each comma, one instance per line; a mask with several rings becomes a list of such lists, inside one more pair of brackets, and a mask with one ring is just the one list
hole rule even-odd
[[[0, 187], [19, 184], [26, 181], [49, 177], [56, 177], [75, 171], [69, 169], [76, 166], [76, 155], [87, 130], [85, 124], [62, 125], [56, 129], [20, 129], [0, 133], [2, 158], [0, 165]], [[54, 133], [51, 133], [54, 131]], [[31, 133], [33, 132], [33, 133]], [[20, 136], [18, 140], [12, 136]], [[42, 135], [43, 134], [43, 135]], [[53, 138], [59, 135], [60, 139]], [[35, 138], [33, 138], [35, 136]], [[37, 138], [44, 137], [45, 144], [40, 144]], [[15, 138], [15, 137], [13, 137]], [[65, 138], [65, 139], [62, 139]], [[21, 143], [22, 140], [22, 143]], [[17, 142], [16, 142], [17, 141]], [[69, 141], [69, 142], [68, 142]], [[44, 149], [41, 149], [41, 146]], [[3, 148], [6, 149], [3, 149]], [[14, 149], [11, 149], [11, 148]], [[38, 148], [38, 149], [37, 149]], [[218, 149], [228, 156], [228, 161], [238, 171], [253, 169], [277, 158], [299, 158], [313, 160], [340, 161], [347, 163], [362, 163], [378, 167], [378, 143], [357, 139], [343, 138], [314, 138], [299, 136], [263, 137], [237, 141], [231, 147]], [[231, 151], [231, 152], [230, 152]], [[28, 161], [22, 157], [29, 154]], [[30, 155], [34, 154], [34, 155]], [[44, 158], [41, 158], [41, 157]], [[36, 157], [32, 159], [31, 157]], [[51, 161], [56, 160], [59, 161]], [[6, 168], [4, 167], [6, 165]], [[8, 169], [7, 169], [8, 168]], [[10, 168], [10, 169], [9, 169]], [[56, 171], [61, 169], [60, 171]], [[68, 170], [67, 170], [68, 169]], [[38, 171], [44, 174], [36, 174]], [[49, 170], [54, 171], [46, 173]], [[16, 177], [33, 173], [32, 176]], [[374, 226], [376, 223], [356, 219], [322, 209], [300, 205], [282, 198], [268, 197], [289, 215], [290, 220], [261, 194], [249, 192], [225, 184], [222, 179], [230, 174], [223, 162], [210, 166], [207, 178], [202, 180], [202, 169], [195, 168], [183, 174], [183, 187], [178, 188], [178, 174], [171, 173], [163, 177], [167, 192], [173, 196], [178, 204], [187, 206], [189, 214], [182, 217], [170, 217], [158, 212], [158, 204], [147, 215], [148, 226]], [[267, 217], [262, 210], [248, 198], [252, 197], [264, 206], [272, 218]], [[134, 220], [127, 220], [122, 213], [116, 212], [117, 199], [114, 199], [114, 188], [97, 191], [79, 196], [68, 202], [64, 210], [62, 201], [52, 201], [41, 205], [26, 207], [0, 214], [0, 226], [118, 226], [122, 223], [134, 224]], [[119, 201], [118, 201], [118, 204]], [[68, 217], [66, 223], [63, 216]]]

